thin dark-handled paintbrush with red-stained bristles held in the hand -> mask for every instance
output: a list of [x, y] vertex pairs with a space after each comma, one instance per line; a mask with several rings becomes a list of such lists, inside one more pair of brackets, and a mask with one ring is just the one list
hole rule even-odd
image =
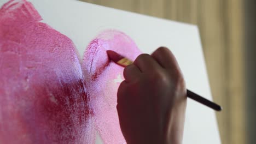
[[[133, 62], [124, 57], [124, 56], [121, 56], [119, 55], [117, 52], [115, 51], [111, 51], [111, 50], [107, 50], [107, 54], [108, 54], [108, 57], [114, 62], [114, 63], [117, 63], [118, 65], [121, 65], [122, 67], [126, 67], [127, 65], [129, 64], [132, 64]], [[208, 106], [210, 108], [212, 108], [213, 110], [216, 110], [216, 111], [221, 111], [222, 110], [222, 107], [216, 103], [213, 103], [212, 101], [208, 100], [208, 99], [205, 99], [203, 97], [201, 97], [200, 95], [194, 93], [194, 92], [191, 92], [187, 89], [187, 96], [188, 98], [191, 98], [205, 106]]]

